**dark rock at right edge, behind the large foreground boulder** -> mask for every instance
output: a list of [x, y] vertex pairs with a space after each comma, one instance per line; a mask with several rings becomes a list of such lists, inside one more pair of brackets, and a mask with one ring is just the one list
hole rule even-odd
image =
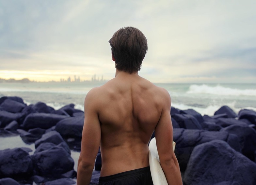
[[256, 150], [255, 130], [250, 128], [248, 125], [235, 124], [222, 128], [221, 131], [237, 135], [242, 148], [242, 154], [254, 161], [254, 151]]

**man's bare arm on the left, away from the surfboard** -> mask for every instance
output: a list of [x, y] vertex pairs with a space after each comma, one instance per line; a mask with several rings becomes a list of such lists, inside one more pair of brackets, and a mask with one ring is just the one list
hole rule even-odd
[[89, 185], [100, 140], [101, 126], [98, 118], [97, 97], [92, 89], [85, 98], [85, 121], [82, 134], [81, 152], [77, 167], [77, 185]]

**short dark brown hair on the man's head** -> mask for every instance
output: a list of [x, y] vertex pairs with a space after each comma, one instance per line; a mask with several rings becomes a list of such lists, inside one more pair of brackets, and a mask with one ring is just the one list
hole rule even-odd
[[118, 70], [129, 73], [140, 70], [148, 50], [147, 39], [140, 30], [123, 27], [108, 42]]

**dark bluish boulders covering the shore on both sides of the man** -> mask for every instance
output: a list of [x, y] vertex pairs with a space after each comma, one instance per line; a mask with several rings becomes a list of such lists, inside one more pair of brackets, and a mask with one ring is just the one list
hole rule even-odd
[[[171, 107], [175, 154], [184, 185], [256, 184], [256, 112], [238, 115], [227, 106], [214, 116]], [[0, 137], [20, 135], [35, 151], [0, 150], [0, 185], [76, 184], [71, 150], [80, 151], [84, 112], [66, 105], [58, 110], [43, 102], [26, 105], [22, 98], [0, 98]], [[0, 138], [1, 139], [1, 138]], [[91, 184], [101, 168], [97, 156]]]

